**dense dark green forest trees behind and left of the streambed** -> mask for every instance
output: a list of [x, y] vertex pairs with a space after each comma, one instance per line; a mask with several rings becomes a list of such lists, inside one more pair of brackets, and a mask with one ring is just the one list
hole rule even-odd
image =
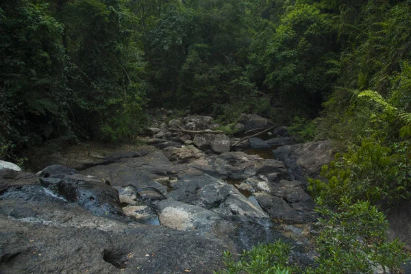
[[337, 77], [326, 73], [340, 51], [333, 9], [281, 0], [3, 1], [1, 153], [59, 136], [129, 139], [146, 106], [229, 123], [241, 112], [312, 117]]

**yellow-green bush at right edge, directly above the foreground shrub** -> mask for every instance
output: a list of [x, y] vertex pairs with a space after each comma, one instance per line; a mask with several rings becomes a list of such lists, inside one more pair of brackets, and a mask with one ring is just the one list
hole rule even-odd
[[345, 195], [357, 201], [391, 204], [410, 197], [411, 166], [407, 154], [409, 142], [392, 147], [367, 139], [360, 148], [336, 154], [336, 160], [323, 166], [321, 175], [328, 182], [309, 179], [308, 190], [329, 205]]

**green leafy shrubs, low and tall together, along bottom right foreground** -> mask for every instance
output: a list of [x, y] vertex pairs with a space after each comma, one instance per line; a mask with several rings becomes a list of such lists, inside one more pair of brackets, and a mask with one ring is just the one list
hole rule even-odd
[[240, 260], [224, 253], [226, 269], [216, 274], [349, 274], [402, 273], [408, 258], [398, 240], [387, 242], [388, 222], [382, 212], [368, 201], [352, 203], [343, 198], [337, 211], [330, 210], [323, 200], [317, 200], [321, 233], [316, 237], [319, 256], [316, 266], [303, 266], [290, 260], [290, 243], [278, 240], [243, 251]]

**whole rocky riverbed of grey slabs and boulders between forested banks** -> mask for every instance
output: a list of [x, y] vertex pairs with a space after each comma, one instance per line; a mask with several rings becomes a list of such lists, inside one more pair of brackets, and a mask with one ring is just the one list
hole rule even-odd
[[[269, 124], [249, 114], [236, 128]], [[188, 116], [153, 123], [147, 146], [77, 146], [37, 158], [38, 173], [0, 169], [0, 272], [212, 273], [223, 251], [279, 238], [312, 264], [318, 216], [304, 177], [332, 160], [331, 144], [294, 145], [284, 127], [236, 146], [173, 130], [216, 127]]]

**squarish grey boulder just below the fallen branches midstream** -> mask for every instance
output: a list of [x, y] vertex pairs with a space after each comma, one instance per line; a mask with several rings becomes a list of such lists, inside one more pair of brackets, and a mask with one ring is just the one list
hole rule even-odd
[[224, 134], [196, 134], [194, 145], [200, 149], [211, 149], [215, 153], [225, 153], [229, 151], [229, 137]]

